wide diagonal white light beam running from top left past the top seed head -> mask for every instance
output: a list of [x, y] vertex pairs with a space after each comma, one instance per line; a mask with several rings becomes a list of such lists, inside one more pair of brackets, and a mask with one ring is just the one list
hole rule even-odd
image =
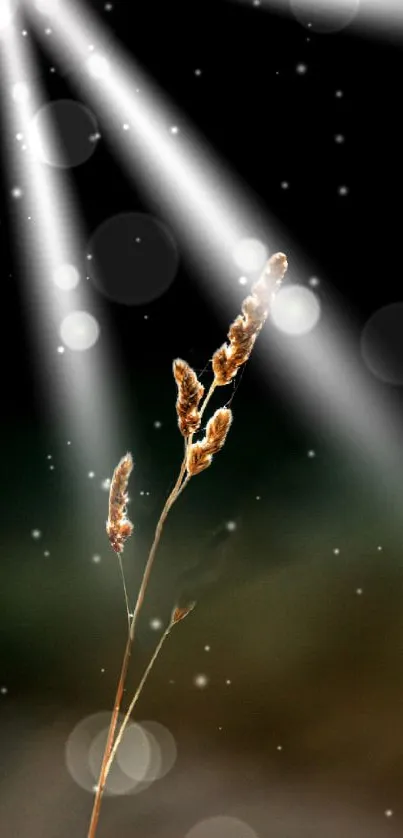
[[[37, 21], [35, 14], [33, 19]], [[295, 246], [275, 233], [267, 212], [225, 173], [195, 132], [186, 127], [175, 136], [170, 133], [170, 125], [181, 126], [183, 119], [179, 114], [169, 117], [173, 107], [167, 99], [84, 5], [60, 0], [52, 29], [54, 37], [44, 41], [46, 46], [54, 49], [59, 61], [76, 65], [76, 82], [102, 117], [113, 151], [133, 181], [142, 185], [148, 201], [157, 204], [175, 228], [183, 249], [196, 257], [197, 270], [204, 274], [206, 290], [216, 305], [225, 301], [228, 311], [231, 300], [238, 309], [239, 285], [234, 280], [239, 260], [246, 259], [248, 270], [251, 266], [256, 270], [252, 256], [268, 235], [271, 249], [291, 254], [291, 265], [306, 272]], [[130, 131], [122, 130], [124, 125]], [[250, 239], [255, 242], [252, 246]], [[267, 371], [275, 358], [273, 374], [283, 383], [285, 398], [297, 404], [316, 428], [325, 429], [327, 436], [335, 434], [343, 452], [353, 453], [354, 462], [358, 459], [371, 467], [373, 490], [383, 491], [388, 481], [391, 485], [393, 467], [394, 489], [399, 491], [402, 434], [396, 405], [359, 368], [354, 330], [336, 307], [332, 322], [337, 326], [322, 323], [314, 329], [318, 317], [311, 303], [308, 334], [300, 325], [297, 334], [294, 327], [294, 334], [272, 329], [271, 337], [266, 330], [260, 343], [267, 350], [262, 368]]]

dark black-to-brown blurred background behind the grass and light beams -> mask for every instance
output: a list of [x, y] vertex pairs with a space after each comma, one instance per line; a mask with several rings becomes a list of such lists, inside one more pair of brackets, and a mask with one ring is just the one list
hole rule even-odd
[[[221, 0], [90, 5], [279, 220], [358, 329], [401, 299], [398, 33], [317, 34], [290, 15]], [[50, 74], [50, 60], [40, 60], [50, 98], [74, 98], [57, 62]], [[88, 239], [117, 213], [149, 211], [102, 138], [70, 176]], [[100, 479], [108, 475], [94, 463], [94, 516], [83, 528], [64, 441], [52, 427], [51, 387], [45, 399], [32, 363], [23, 244], [5, 165], [1, 177], [0, 834], [70, 838], [86, 834], [91, 796], [65, 768], [65, 742], [86, 715], [112, 706], [125, 614], [103, 531]], [[172, 359], [201, 371], [236, 311], [214, 310], [184, 256], [155, 302], [103, 303], [127, 425], [142, 447], [130, 504], [135, 533], [124, 555], [134, 592], [181, 458]], [[177, 763], [142, 794], [106, 800], [99, 836], [187, 836], [218, 815], [239, 818], [258, 838], [397, 836], [401, 538], [354, 476], [351, 453], [291, 410], [253, 359], [231, 407], [225, 449], [169, 519], [129, 678], [133, 686], [156, 641], [150, 619], [165, 620], [190, 585], [197, 608], [169, 639], [138, 708], [138, 718], [171, 730]], [[134, 434], [121, 444], [118, 456], [133, 450]], [[200, 673], [209, 678], [204, 689], [194, 684]], [[208, 835], [206, 827], [194, 838]]]

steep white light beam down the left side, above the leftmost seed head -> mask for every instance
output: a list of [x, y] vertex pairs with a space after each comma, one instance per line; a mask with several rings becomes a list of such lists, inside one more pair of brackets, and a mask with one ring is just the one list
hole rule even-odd
[[[42, 386], [45, 421], [51, 418], [63, 448], [71, 443], [67, 462], [74, 464], [79, 490], [88, 469], [96, 469], [100, 478], [111, 474], [127, 440], [122, 415], [116, 418], [119, 379], [104, 325], [100, 329], [102, 311], [99, 303], [94, 311], [85, 287], [85, 248], [72, 190], [60, 171], [38, 159], [32, 126], [43, 95], [32, 81], [32, 56], [22, 28], [17, 15], [1, 39], [0, 53], [5, 161], [14, 178], [10, 202], [14, 199], [18, 256], [27, 273], [28, 327], [33, 332], [29, 363], [35, 365]], [[47, 133], [48, 142], [56, 143], [51, 125]]]

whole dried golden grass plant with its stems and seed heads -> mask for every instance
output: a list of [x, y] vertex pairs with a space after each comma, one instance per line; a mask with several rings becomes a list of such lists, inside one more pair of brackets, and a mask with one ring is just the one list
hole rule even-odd
[[[126, 608], [129, 619], [129, 634], [123, 655], [115, 703], [102, 758], [100, 776], [96, 787], [95, 800], [87, 838], [95, 838], [96, 835], [106, 778], [123, 735], [123, 725], [126, 727], [129, 721], [132, 709], [138, 700], [155, 660], [161, 651], [163, 643], [170, 634], [173, 626], [182, 620], [190, 610], [178, 608], [174, 609], [171, 621], [163, 633], [150, 663], [145, 670], [143, 678], [140, 681], [139, 687], [125, 716], [122, 728], [115, 738], [131, 649], [135, 637], [135, 628], [144, 601], [145, 592], [165, 520], [171, 507], [186, 487], [189, 480], [208, 468], [212, 463], [213, 456], [223, 447], [232, 422], [231, 410], [228, 408], [219, 408], [216, 410], [207, 423], [206, 433], [203, 439], [199, 442], [193, 443], [193, 436], [200, 428], [203, 413], [216, 387], [228, 384], [238, 372], [239, 367], [248, 360], [256, 338], [267, 318], [270, 303], [281, 285], [287, 267], [287, 258], [284, 253], [274, 254], [274, 256], [272, 256], [266, 263], [260, 279], [252, 286], [251, 294], [242, 303], [242, 314], [240, 314], [230, 326], [228, 331], [229, 343], [223, 344], [223, 346], [221, 346], [212, 357], [214, 379], [202, 404], [200, 404], [200, 402], [204, 395], [204, 387], [199, 382], [194, 370], [192, 370], [186, 361], [183, 361], [180, 358], [177, 358], [173, 362], [173, 375], [178, 388], [176, 414], [179, 430], [184, 437], [184, 457], [177, 481], [165, 502], [157, 523], [154, 540], [145, 565], [136, 605], [131, 619], [129, 616], [129, 605], [126, 586], [124, 583]], [[112, 549], [118, 554], [119, 560], [121, 559], [124, 544], [133, 530], [133, 525], [126, 516], [126, 505], [128, 500], [127, 485], [132, 468], [132, 457], [130, 454], [126, 454], [114, 471], [109, 495], [109, 517], [106, 523], [106, 531]], [[120, 567], [124, 580], [123, 567], [122, 565], [120, 565]], [[175, 618], [174, 615], [176, 615]]]

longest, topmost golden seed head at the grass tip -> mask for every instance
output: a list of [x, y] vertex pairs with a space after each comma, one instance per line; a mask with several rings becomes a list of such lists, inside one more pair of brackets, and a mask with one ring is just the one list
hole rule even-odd
[[212, 367], [214, 383], [228, 384], [238, 368], [248, 360], [255, 340], [267, 318], [270, 301], [278, 290], [287, 270], [287, 257], [275, 253], [266, 263], [260, 279], [252, 286], [252, 293], [242, 303], [242, 314], [231, 324], [228, 338], [214, 353]]

